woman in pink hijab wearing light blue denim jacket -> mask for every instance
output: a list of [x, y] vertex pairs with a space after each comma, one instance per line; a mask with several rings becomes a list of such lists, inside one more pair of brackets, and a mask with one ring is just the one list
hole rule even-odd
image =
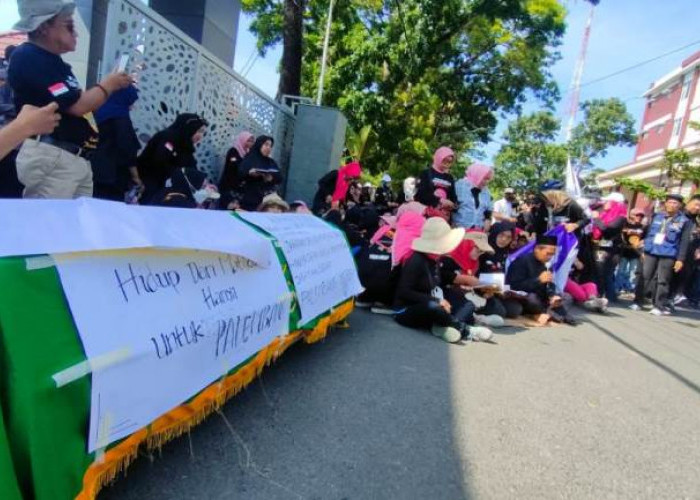
[[454, 222], [466, 229], [488, 230], [490, 227], [493, 202], [488, 183], [493, 179], [493, 168], [481, 163], [473, 163], [463, 179], [457, 181], [455, 190], [459, 208]]

